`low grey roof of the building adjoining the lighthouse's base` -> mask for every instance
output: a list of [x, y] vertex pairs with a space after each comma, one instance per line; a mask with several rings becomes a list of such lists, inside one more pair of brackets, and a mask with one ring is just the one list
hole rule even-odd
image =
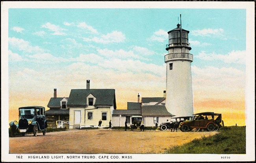
[[141, 113], [142, 116], [174, 116], [166, 110], [165, 105], [144, 105]]

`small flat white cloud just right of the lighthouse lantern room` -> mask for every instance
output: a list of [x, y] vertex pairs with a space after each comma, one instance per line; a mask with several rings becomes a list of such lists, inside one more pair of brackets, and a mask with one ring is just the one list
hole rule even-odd
[[198, 29], [191, 31], [193, 36], [202, 36], [202, 37], [223, 37], [224, 29]]

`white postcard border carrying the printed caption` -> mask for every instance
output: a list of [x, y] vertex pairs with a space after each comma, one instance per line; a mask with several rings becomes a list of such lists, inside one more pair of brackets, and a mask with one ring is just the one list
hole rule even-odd
[[[255, 2], [1, 2], [1, 153], [2, 161], [15, 162], [65, 162], [65, 161], [255, 161]], [[19, 154], [9, 154], [8, 138], [8, 9], [9, 8], [187, 8], [187, 9], [246, 9], [246, 154], [102, 154], [104, 156], [132, 156], [133, 159], [17, 159]], [[31, 156], [56, 156], [56, 154], [31, 154]], [[94, 154], [98, 156], [99, 154]], [[194, 155], [194, 156], [193, 156]], [[22, 154], [27, 157], [28, 154]], [[58, 154], [67, 156], [67, 154]], [[81, 156], [69, 154], [69, 156]], [[223, 160], [221, 156], [230, 156]]]

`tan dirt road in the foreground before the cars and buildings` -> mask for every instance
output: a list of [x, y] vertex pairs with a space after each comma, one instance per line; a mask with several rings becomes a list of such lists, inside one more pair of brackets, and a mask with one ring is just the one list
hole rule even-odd
[[9, 153], [30, 154], [145, 154], [163, 153], [169, 147], [216, 132], [78, 130], [9, 138]]

